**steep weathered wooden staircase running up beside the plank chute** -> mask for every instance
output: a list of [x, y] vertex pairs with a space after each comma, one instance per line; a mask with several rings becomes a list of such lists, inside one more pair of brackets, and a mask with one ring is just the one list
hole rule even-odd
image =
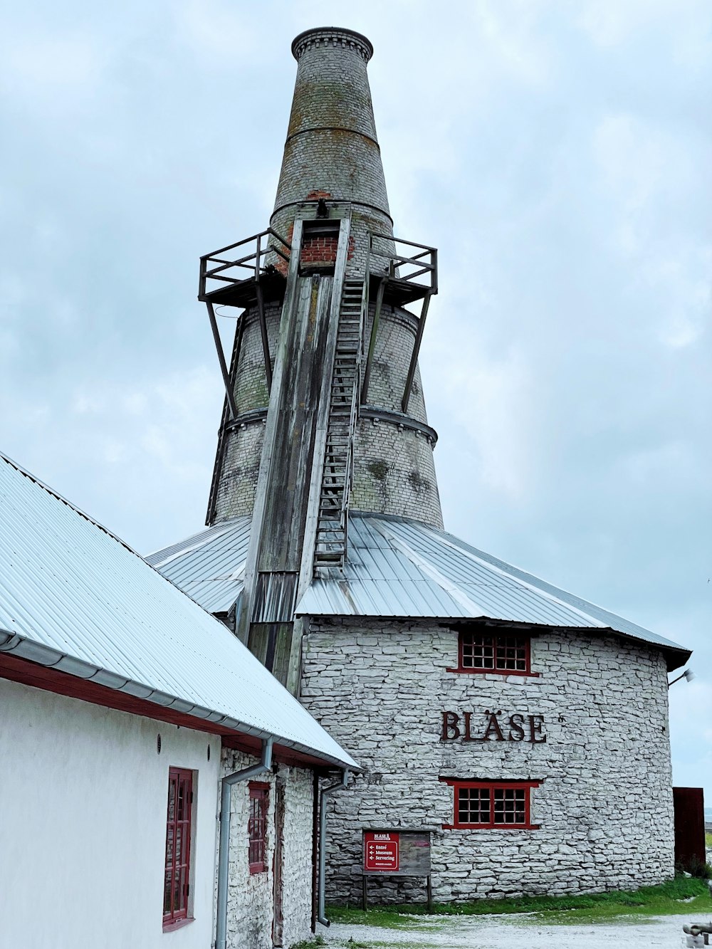
[[365, 281], [345, 280], [331, 375], [327, 440], [319, 493], [314, 568], [343, 568], [347, 553], [348, 495], [360, 389]]

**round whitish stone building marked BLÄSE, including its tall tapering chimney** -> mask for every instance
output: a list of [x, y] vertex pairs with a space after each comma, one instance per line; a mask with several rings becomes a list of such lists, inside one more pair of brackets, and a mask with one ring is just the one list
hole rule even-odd
[[[201, 261], [214, 329], [242, 311], [207, 529], [150, 561], [363, 765], [333, 798], [330, 899], [359, 898], [366, 831], [404, 828], [439, 900], [660, 882], [689, 653], [442, 530], [418, 369], [437, 252], [394, 236], [369, 42], [313, 29], [292, 53], [270, 228]], [[374, 896], [421, 891], [384, 860]]]

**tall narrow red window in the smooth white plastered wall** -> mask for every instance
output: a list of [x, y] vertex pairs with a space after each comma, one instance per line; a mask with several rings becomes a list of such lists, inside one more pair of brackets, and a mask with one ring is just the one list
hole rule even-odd
[[171, 768], [165, 836], [164, 929], [189, 919], [192, 816], [193, 772]]

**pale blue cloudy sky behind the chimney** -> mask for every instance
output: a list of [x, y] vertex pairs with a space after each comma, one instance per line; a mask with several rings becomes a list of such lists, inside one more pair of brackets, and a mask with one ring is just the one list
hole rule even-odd
[[707, 0], [7, 4], [0, 451], [142, 553], [202, 527], [198, 257], [268, 226], [318, 26], [373, 43], [395, 233], [440, 251], [446, 529], [694, 649], [673, 778], [712, 806]]

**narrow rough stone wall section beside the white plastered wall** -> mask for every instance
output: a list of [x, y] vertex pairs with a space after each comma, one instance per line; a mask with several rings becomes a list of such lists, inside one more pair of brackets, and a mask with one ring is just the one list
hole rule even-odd
[[[255, 764], [247, 754], [223, 749], [222, 776]], [[283, 915], [285, 946], [309, 938], [311, 925], [311, 772], [277, 767], [276, 773], [260, 774], [255, 781], [270, 784], [268, 797], [268, 869], [250, 873], [248, 820], [249, 782], [234, 785], [230, 826], [230, 882], [228, 890], [228, 949], [272, 949], [274, 802], [275, 786], [284, 786], [285, 821], [283, 856]]]

